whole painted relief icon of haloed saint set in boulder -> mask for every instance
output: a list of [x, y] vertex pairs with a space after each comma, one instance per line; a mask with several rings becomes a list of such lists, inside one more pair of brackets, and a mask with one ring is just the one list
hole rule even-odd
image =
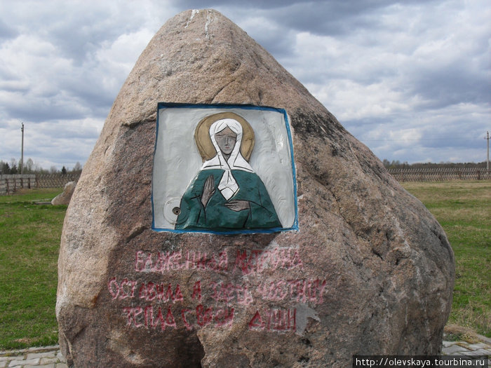
[[160, 103], [152, 205], [156, 231], [298, 229], [285, 111]]

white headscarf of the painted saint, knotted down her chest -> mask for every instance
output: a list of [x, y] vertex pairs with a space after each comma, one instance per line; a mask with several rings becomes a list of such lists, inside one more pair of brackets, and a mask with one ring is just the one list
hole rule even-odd
[[[221, 132], [227, 127], [237, 135], [234, 149], [232, 149], [228, 160], [224, 158], [222, 150], [220, 150], [217, 140], [215, 139], [217, 132]], [[234, 196], [238, 191], [238, 184], [232, 175], [231, 170], [254, 172], [253, 168], [250, 167], [249, 163], [245, 161], [245, 158], [243, 158], [241, 154], [242, 125], [231, 118], [217, 120], [210, 126], [210, 138], [213, 146], [215, 146], [217, 155], [210, 160], [205, 161], [201, 170], [222, 169], [225, 171], [218, 184], [218, 189], [220, 190], [220, 193], [222, 193], [222, 196], [229, 200], [231, 196]]]

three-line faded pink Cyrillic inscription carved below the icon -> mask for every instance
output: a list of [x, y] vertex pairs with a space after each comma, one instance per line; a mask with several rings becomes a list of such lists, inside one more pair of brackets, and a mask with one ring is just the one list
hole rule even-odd
[[[304, 268], [300, 253], [298, 247], [237, 250], [235, 245], [218, 252], [138, 250], [131, 270], [134, 280], [113, 277], [107, 288], [110, 300], [123, 304], [120, 311], [132, 328], [231, 329], [239, 313], [262, 300], [269, 304], [267, 308], [255, 308], [255, 313], [236, 320], [247, 323], [252, 331], [292, 332], [297, 328], [293, 306], [322, 304], [327, 283], [293, 276], [301, 275]], [[269, 278], [276, 270], [278, 277]], [[261, 281], [261, 273], [267, 281]], [[179, 276], [180, 284], [173, 275]], [[196, 275], [207, 281], [196, 280]], [[281, 303], [271, 307], [275, 302]]]

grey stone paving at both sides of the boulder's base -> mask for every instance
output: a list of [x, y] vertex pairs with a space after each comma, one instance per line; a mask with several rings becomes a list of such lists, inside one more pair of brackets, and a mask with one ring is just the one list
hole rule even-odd
[[[478, 343], [443, 341], [442, 355], [491, 355], [491, 340]], [[0, 368], [68, 368], [58, 345], [0, 351]]]

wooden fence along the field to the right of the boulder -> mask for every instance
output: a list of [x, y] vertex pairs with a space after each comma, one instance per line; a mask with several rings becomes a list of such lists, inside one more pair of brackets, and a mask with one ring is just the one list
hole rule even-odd
[[485, 168], [403, 168], [389, 169], [398, 182], [445, 182], [447, 180], [491, 179]]

